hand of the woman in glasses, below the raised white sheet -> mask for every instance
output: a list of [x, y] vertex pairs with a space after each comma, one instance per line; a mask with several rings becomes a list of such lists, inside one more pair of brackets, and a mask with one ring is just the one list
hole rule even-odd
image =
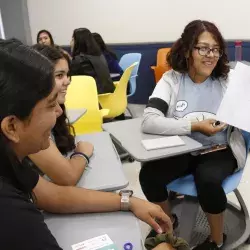
[[204, 135], [211, 136], [222, 131], [227, 125], [221, 123], [220, 125], [214, 126], [216, 120], [207, 119], [201, 122], [192, 123], [192, 131], [200, 132]]

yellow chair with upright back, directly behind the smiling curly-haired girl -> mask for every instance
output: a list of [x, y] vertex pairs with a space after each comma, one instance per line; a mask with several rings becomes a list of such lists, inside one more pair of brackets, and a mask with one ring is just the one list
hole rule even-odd
[[100, 110], [96, 82], [90, 76], [72, 76], [68, 87], [66, 109], [86, 108], [86, 114], [73, 124], [76, 135], [102, 131], [103, 116], [109, 110]]

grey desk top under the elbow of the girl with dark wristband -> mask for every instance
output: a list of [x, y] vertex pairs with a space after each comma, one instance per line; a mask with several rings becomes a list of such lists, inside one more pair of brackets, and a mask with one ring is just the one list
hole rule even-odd
[[76, 142], [78, 141], [88, 141], [94, 145], [94, 154], [77, 184], [78, 187], [114, 191], [129, 184], [120, 157], [107, 132], [76, 136]]

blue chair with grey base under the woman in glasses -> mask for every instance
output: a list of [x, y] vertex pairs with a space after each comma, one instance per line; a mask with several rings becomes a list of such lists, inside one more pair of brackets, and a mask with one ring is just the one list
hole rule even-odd
[[[250, 134], [245, 131], [242, 133], [246, 142], [248, 154], [250, 148]], [[228, 236], [226, 244], [223, 247], [225, 250], [235, 249], [249, 239], [249, 214], [244, 200], [237, 190], [242, 174], [243, 169], [235, 172], [223, 182], [225, 193], [229, 194], [234, 192], [240, 204], [240, 209], [238, 209], [235, 205], [228, 203], [227, 216], [229, 218], [231, 216], [233, 221], [229, 223], [229, 220], [225, 219], [225, 230]], [[196, 199], [197, 192], [193, 175], [188, 175], [171, 182], [167, 185], [167, 189], [184, 195], [184, 200], [181, 204], [176, 205], [177, 208], [178, 206], [181, 208], [180, 237], [192, 244], [197, 244], [197, 241], [202, 242], [205, 240], [209, 234], [209, 229], [205, 214], [199, 209], [199, 204]], [[175, 205], [173, 205], [173, 209], [174, 206]], [[238, 221], [237, 218], [239, 218]], [[237, 228], [235, 225], [237, 225]]]

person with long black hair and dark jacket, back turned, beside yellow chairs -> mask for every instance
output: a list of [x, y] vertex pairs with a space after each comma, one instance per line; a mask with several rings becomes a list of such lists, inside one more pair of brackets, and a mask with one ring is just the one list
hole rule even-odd
[[70, 46], [73, 57], [70, 75], [92, 76], [98, 94], [113, 93], [115, 86], [107, 62], [92, 33], [86, 28], [75, 29]]

